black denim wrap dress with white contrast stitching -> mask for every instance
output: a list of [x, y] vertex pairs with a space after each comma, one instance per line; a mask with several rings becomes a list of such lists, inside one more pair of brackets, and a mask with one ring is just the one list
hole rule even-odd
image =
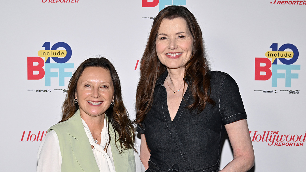
[[[146, 172], [214, 172], [219, 170], [220, 146], [225, 124], [246, 119], [237, 83], [224, 72], [209, 71], [211, 98], [215, 106], [207, 104], [197, 109], [186, 108], [193, 98], [189, 89], [184, 94], [177, 114], [171, 121], [163, 73], [156, 82], [151, 110], [137, 132], [145, 134], [151, 150]], [[185, 79], [189, 85], [190, 81]], [[185, 100], [185, 101], [184, 101]]]

